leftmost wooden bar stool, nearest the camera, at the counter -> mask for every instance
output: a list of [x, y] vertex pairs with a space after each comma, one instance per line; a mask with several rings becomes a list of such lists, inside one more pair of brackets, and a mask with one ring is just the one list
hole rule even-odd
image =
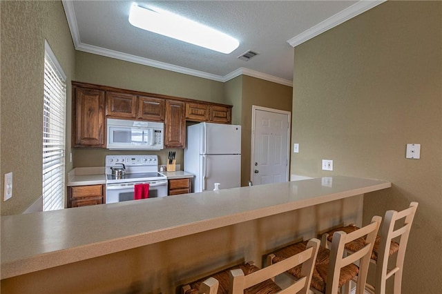
[[[318, 239], [311, 239], [305, 250], [297, 255], [262, 269], [253, 263], [224, 269], [210, 277], [186, 284], [182, 287], [182, 294], [307, 294], [319, 246]], [[300, 266], [301, 277], [296, 283], [282, 290], [273, 282], [273, 277], [294, 266]]]

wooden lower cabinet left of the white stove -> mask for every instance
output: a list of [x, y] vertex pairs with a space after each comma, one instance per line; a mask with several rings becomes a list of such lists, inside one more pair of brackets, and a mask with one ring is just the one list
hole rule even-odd
[[106, 203], [104, 185], [68, 187], [68, 208]]

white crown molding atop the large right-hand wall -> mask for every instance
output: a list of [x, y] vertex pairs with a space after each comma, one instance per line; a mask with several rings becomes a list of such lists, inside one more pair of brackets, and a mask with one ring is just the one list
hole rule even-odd
[[300, 45], [301, 43], [304, 43], [305, 41], [308, 41], [309, 39], [312, 39], [323, 32], [330, 30], [341, 23], [352, 19], [353, 17], [358, 16], [359, 14], [366, 12], [367, 10], [370, 10], [379, 4], [384, 3], [387, 0], [361, 0], [357, 3], [354, 3], [352, 6], [349, 6], [348, 8], [345, 8], [345, 10], [342, 10], [334, 16], [329, 17], [328, 19], [325, 19], [325, 21], [322, 21], [318, 23], [316, 26], [313, 26], [309, 28], [308, 30], [305, 30], [304, 32], [301, 32], [299, 35], [296, 35], [295, 37], [287, 40], [287, 43], [290, 44], [292, 47], [296, 47]]

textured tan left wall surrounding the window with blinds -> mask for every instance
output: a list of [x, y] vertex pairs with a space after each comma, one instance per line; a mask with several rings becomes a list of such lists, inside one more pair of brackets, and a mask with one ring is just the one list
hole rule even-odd
[[[75, 54], [61, 1], [0, 1], [1, 181], [13, 173], [12, 198], [1, 215], [21, 213], [41, 196], [44, 40], [65, 74], [73, 77]], [[70, 121], [70, 86], [67, 117]], [[70, 152], [70, 124], [67, 128]], [[66, 163], [66, 170], [72, 165]]]

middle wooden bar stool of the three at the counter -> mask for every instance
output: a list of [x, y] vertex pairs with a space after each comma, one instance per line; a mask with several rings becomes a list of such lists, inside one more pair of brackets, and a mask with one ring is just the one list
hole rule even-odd
[[[344, 285], [348, 289], [349, 282], [357, 275], [356, 293], [363, 294], [367, 280], [369, 259], [380, 224], [381, 217], [375, 216], [371, 224], [352, 233], [342, 231], [334, 233], [331, 250], [320, 246], [311, 278], [311, 291], [314, 291], [314, 293], [336, 294]], [[358, 238], [363, 238], [365, 245], [354, 252], [354, 254], [345, 256], [345, 244]], [[303, 248], [305, 248], [305, 242], [298, 242], [281, 248], [269, 255], [271, 264], [282, 262], [286, 258], [302, 251]], [[360, 262], [359, 266], [354, 264], [356, 261]], [[287, 273], [295, 278], [300, 277], [299, 268], [291, 268]]]

